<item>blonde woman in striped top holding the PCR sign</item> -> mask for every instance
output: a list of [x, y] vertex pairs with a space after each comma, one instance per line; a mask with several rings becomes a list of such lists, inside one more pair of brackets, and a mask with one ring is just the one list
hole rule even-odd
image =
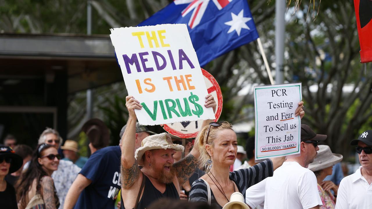
[[[301, 118], [305, 114], [302, 104], [299, 103], [295, 112]], [[236, 159], [237, 145], [237, 136], [228, 122], [212, 122], [202, 128], [195, 139], [194, 149], [199, 149], [199, 164], [206, 167], [206, 174], [192, 184], [190, 202], [208, 202], [215, 208], [222, 208], [234, 192], [242, 193], [245, 202], [247, 188], [272, 176], [285, 160], [285, 157], [268, 159], [250, 168], [230, 172], [229, 168]]]

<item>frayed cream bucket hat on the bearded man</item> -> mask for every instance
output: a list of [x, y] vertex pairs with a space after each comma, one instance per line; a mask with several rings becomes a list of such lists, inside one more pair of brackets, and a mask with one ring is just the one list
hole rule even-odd
[[185, 148], [182, 145], [173, 144], [172, 139], [167, 133], [147, 136], [142, 140], [141, 147], [134, 153], [138, 165], [143, 165], [142, 155], [151, 149], [174, 149], [175, 151], [183, 151]]

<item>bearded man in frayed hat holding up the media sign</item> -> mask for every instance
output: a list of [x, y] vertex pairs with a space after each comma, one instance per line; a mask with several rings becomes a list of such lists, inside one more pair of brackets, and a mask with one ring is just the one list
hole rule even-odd
[[[125, 99], [129, 118], [122, 137], [121, 208], [147, 208], [163, 197], [180, 199], [180, 185], [198, 167], [199, 153], [193, 149], [185, 158], [174, 163], [174, 152], [183, 151], [184, 147], [173, 144], [167, 133], [147, 136], [141, 147], [134, 151], [137, 122], [134, 110], [141, 109], [142, 105], [133, 96]], [[215, 111], [216, 102], [213, 96], [208, 94], [205, 99], [205, 107], [212, 107]], [[208, 123], [206, 120], [203, 125]]]

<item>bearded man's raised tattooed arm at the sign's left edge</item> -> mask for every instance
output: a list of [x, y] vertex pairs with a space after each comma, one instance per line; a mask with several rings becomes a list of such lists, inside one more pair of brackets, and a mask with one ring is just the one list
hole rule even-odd
[[129, 118], [122, 136], [122, 144], [125, 146], [122, 146], [121, 149], [121, 185], [124, 189], [128, 189], [133, 186], [141, 172], [134, 158], [137, 122], [137, 116], [134, 110], [141, 109], [142, 105], [133, 96], [125, 97], [125, 100]]

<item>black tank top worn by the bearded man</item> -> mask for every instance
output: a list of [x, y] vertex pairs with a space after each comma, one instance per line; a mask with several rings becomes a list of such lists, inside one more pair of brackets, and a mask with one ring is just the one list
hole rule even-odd
[[[146, 207], [151, 205], [151, 203], [161, 198], [177, 199], [177, 200], [180, 199], [176, 186], [174, 186], [173, 183], [166, 184], [165, 192], [161, 193], [159, 190], [157, 190], [154, 187], [153, 183], [151, 183], [150, 179], [148, 179], [146, 175], [144, 175], [144, 178], [145, 178], [145, 186], [143, 188], [143, 194], [142, 194], [140, 202], [138, 203], [137, 209], [145, 209]], [[121, 198], [120, 208], [125, 209], [123, 197]]]

